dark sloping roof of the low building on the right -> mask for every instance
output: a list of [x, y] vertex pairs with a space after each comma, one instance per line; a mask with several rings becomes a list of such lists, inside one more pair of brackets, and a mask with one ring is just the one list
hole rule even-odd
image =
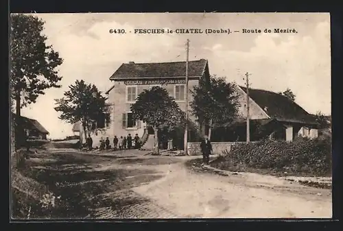
[[[246, 93], [246, 87], [239, 86]], [[307, 111], [291, 99], [268, 90], [249, 88], [249, 97], [254, 100], [271, 119], [291, 123], [317, 125]]]

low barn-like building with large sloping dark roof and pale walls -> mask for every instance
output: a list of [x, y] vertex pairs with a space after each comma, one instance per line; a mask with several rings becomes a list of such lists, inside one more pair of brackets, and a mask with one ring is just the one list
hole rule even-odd
[[[246, 118], [247, 90], [238, 86], [237, 91], [239, 114]], [[314, 117], [296, 102], [279, 93], [249, 88], [249, 112], [252, 136], [254, 132], [258, 134], [263, 130], [270, 138], [285, 141], [293, 141], [296, 136], [318, 137], [318, 123]], [[246, 121], [240, 121], [238, 125], [242, 127], [242, 132], [246, 132]], [[246, 138], [246, 133], [241, 134], [241, 137]]]

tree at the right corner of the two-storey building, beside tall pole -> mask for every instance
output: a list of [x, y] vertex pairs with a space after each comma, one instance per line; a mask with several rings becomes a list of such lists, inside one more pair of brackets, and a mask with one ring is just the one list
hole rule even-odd
[[199, 123], [209, 125], [209, 138], [213, 127], [221, 127], [237, 117], [236, 85], [226, 82], [224, 77], [212, 75], [209, 82], [200, 80], [199, 86], [194, 86], [191, 93], [191, 114], [198, 118]]

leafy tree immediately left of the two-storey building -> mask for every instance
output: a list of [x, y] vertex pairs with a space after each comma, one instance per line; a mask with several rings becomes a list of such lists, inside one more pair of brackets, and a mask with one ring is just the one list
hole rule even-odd
[[99, 119], [110, 121], [106, 97], [93, 84], [86, 84], [84, 80], [76, 80], [75, 84], [69, 86], [69, 90], [64, 92], [64, 97], [55, 99], [57, 112], [61, 112], [58, 119], [68, 123], [81, 122], [84, 136], [91, 134]]

